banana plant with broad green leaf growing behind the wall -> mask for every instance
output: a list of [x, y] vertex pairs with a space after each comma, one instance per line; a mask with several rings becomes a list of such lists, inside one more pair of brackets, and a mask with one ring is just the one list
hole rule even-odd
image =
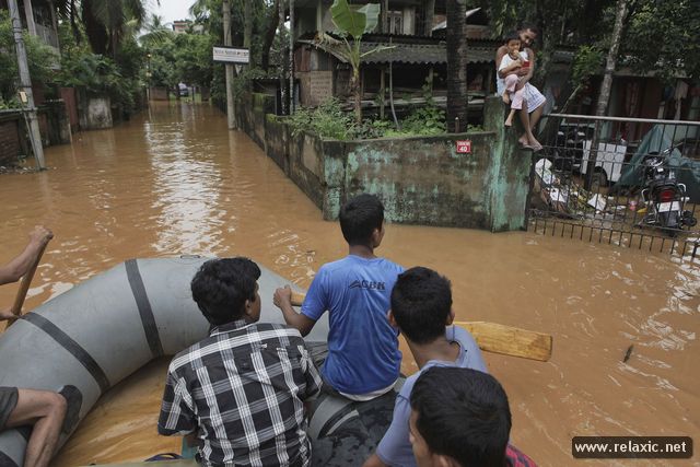
[[360, 9], [352, 9], [347, 0], [335, 0], [330, 7], [332, 23], [336, 25], [335, 35], [319, 32], [315, 44], [320, 47], [330, 47], [343, 61], [350, 63], [352, 77], [350, 78], [350, 91], [354, 98], [354, 118], [358, 125], [362, 124], [362, 96], [360, 95], [360, 62], [370, 54], [390, 49], [390, 46], [378, 46], [362, 52], [360, 44], [362, 36], [374, 31], [380, 20], [380, 4], [368, 3]]

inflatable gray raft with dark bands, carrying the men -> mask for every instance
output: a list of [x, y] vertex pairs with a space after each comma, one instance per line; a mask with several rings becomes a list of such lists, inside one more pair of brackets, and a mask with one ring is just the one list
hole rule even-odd
[[[207, 335], [209, 324], [191, 300], [189, 289], [191, 278], [207, 259], [131, 259], [24, 315], [0, 335], [0, 386], [55, 392], [74, 386], [77, 402], [71, 400], [68, 416], [74, 422], [61, 435], [62, 445], [107, 389], [152, 359], [175, 354]], [[272, 294], [289, 282], [266, 268], [260, 269], [260, 322], [283, 323], [282, 314], [272, 304]], [[306, 341], [312, 347], [325, 343], [327, 334], [325, 315]], [[363, 407], [358, 410], [358, 406]], [[380, 411], [381, 421], [376, 419], [376, 407], [364, 406], [328, 396], [318, 399], [310, 434], [324, 440], [317, 450], [325, 458], [324, 464], [332, 464], [331, 451], [348, 443], [347, 439], [334, 437], [340, 435], [339, 428], [352, 420], [357, 423], [362, 412], [371, 418], [370, 424], [376, 425], [381, 436], [380, 431], [390, 420], [390, 401], [384, 404], [389, 408], [388, 415], [384, 413], [386, 410]], [[0, 466], [23, 465], [28, 433], [28, 429], [0, 433]], [[368, 444], [364, 435], [360, 437], [360, 444]], [[352, 451], [360, 454], [357, 436], [354, 440]], [[371, 451], [373, 445], [371, 442], [360, 451]]]

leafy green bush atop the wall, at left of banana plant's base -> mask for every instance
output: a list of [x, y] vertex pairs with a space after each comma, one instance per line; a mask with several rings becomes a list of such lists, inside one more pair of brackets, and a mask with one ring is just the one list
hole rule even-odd
[[329, 98], [315, 109], [302, 107], [288, 121], [293, 136], [311, 131], [322, 138], [343, 141], [354, 136], [352, 116], [342, 110], [337, 98]]

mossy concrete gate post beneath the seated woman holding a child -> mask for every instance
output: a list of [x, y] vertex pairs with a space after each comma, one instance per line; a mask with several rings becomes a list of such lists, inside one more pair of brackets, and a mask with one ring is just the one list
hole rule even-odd
[[520, 121], [506, 128], [509, 110], [500, 96], [486, 98], [483, 129], [495, 135], [487, 189], [491, 232], [527, 230], [527, 197], [529, 196], [532, 151], [522, 149], [517, 137], [523, 132]]

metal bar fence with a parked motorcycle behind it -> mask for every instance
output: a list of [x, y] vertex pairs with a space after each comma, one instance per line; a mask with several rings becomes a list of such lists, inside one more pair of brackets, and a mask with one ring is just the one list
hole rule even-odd
[[[533, 157], [532, 231], [700, 254], [700, 122], [552, 114]], [[639, 141], [625, 129], [643, 126]]]

